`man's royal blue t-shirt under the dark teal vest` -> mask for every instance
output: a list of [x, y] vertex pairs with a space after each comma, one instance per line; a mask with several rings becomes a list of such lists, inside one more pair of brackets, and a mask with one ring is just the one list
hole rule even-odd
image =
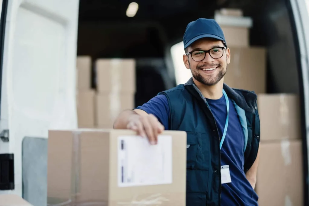
[[[224, 95], [220, 99], [206, 99], [215, 117], [220, 137], [222, 137], [226, 122], [226, 100]], [[221, 202], [222, 205], [250, 205], [256, 206], [258, 196], [253, 190], [243, 171], [244, 156], [243, 144], [244, 134], [238, 114], [231, 99], [229, 99], [229, 122], [221, 148], [221, 165], [229, 165], [231, 183], [222, 184]], [[165, 95], [157, 95], [147, 103], [136, 109], [142, 109], [148, 114], [155, 115], [168, 130], [169, 107]]]

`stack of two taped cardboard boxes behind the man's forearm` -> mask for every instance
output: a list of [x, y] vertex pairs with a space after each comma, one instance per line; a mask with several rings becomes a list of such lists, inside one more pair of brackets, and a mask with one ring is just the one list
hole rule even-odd
[[98, 59], [95, 62], [96, 124], [112, 128], [119, 113], [134, 108], [135, 60]]

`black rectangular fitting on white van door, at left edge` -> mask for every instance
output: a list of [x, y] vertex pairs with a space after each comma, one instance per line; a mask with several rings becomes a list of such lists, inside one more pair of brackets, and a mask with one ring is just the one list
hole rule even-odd
[[14, 190], [14, 154], [0, 154], [0, 190]]

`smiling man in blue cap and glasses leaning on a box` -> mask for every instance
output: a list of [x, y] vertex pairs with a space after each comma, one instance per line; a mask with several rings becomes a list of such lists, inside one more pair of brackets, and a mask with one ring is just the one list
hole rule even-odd
[[187, 132], [187, 206], [258, 205], [257, 96], [223, 83], [231, 54], [213, 19], [189, 23], [183, 40], [193, 78], [122, 112], [114, 128], [135, 130], [150, 144], [164, 128]]

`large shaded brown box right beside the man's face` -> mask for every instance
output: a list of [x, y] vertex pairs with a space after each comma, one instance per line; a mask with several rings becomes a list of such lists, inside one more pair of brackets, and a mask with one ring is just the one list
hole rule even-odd
[[266, 49], [261, 47], [229, 47], [231, 61], [227, 65], [224, 83], [228, 86], [266, 92]]

